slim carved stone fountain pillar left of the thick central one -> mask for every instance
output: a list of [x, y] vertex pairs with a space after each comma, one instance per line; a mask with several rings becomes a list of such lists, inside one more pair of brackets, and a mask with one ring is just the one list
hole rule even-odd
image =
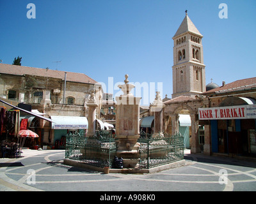
[[88, 113], [88, 129], [87, 135], [88, 137], [93, 136], [95, 134], [95, 124], [96, 124], [96, 108], [98, 106], [96, 98], [95, 98], [95, 91], [90, 91], [90, 97], [86, 103], [89, 109]]

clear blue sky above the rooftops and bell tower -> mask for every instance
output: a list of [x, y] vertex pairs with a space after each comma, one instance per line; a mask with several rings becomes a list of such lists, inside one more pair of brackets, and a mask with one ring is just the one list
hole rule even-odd
[[[35, 19], [26, 16], [29, 3]], [[204, 36], [206, 84], [256, 77], [255, 0], [0, 0], [0, 59], [12, 64], [19, 55], [22, 66], [85, 73], [107, 86], [108, 77], [115, 85], [128, 74], [155, 89], [163, 83], [171, 98], [172, 37], [185, 10]]]

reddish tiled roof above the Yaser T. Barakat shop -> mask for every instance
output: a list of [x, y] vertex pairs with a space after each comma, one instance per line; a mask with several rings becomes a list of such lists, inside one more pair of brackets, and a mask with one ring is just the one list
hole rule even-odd
[[256, 77], [253, 78], [245, 78], [241, 80], [237, 80], [235, 82], [231, 82], [229, 84], [223, 85], [216, 89], [211, 89], [202, 94], [220, 94], [225, 92], [233, 92], [233, 91], [243, 91], [246, 89], [255, 89], [256, 88]]

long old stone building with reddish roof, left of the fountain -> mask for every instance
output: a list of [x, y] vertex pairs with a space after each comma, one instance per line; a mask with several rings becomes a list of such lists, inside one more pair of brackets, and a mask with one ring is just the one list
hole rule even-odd
[[87, 75], [49, 68], [0, 64], [0, 98], [31, 105], [32, 110], [37, 110], [54, 121], [51, 124], [33, 118], [38, 122], [33, 123], [37, 124], [36, 127], [30, 128], [36, 128], [41, 145], [54, 145], [56, 140], [67, 134], [68, 128], [63, 126], [68, 125], [70, 129], [75, 129], [81, 122], [86, 123], [86, 101], [92, 89], [96, 92], [96, 115], [100, 119], [102, 87]]

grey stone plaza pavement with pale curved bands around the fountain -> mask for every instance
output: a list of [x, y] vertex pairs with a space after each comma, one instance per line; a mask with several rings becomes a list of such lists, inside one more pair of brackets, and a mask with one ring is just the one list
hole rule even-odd
[[185, 165], [147, 174], [104, 174], [63, 164], [65, 150], [24, 149], [0, 159], [0, 191], [256, 191], [256, 162], [185, 151]]

